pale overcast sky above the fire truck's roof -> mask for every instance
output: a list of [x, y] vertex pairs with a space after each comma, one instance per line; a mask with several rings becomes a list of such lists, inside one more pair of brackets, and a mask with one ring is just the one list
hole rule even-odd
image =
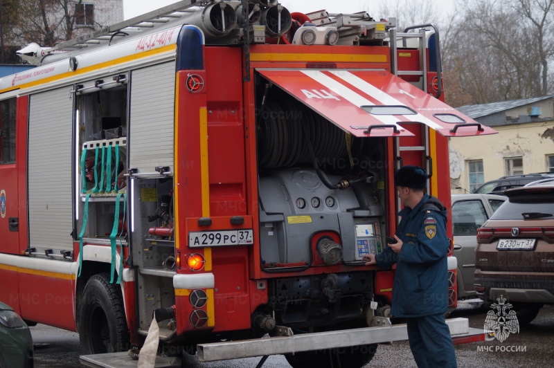
[[[328, 12], [359, 12], [361, 10], [371, 10], [371, 8], [379, 8], [381, 3], [393, 4], [397, 0], [281, 0], [290, 12], [314, 12], [316, 10], [328, 10]], [[415, 0], [414, 0], [415, 1]], [[455, 0], [436, 0], [440, 4], [440, 12], [445, 10], [449, 12], [454, 8]], [[138, 15], [150, 12], [158, 8], [163, 8], [169, 4], [177, 3], [175, 0], [123, 0], [123, 13], [125, 19], [133, 18]], [[372, 5], [370, 5], [372, 4]], [[372, 17], [379, 17], [373, 15]]]

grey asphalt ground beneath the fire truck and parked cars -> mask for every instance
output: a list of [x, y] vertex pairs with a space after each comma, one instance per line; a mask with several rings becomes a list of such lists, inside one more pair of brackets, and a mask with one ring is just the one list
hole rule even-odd
[[[488, 310], [476, 300], [459, 302], [452, 318], [468, 318], [470, 327], [483, 329]], [[36, 368], [80, 367], [79, 336], [77, 333], [56, 329], [44, 324], [30, 327], [35, 343]], [[554, 306], [544, 306], [539, 315], [527, 326], [520, 326], [519, 333], [512, 333], [504, 340], [472, 342], [456, 345], [458, 367], [552, 367], [554, 346]], [[190, 368], [251, 368], [260, 358], [226, 360], [222, 362], [197, 362], [190, 356], [186, 366]], [[263, 367], [287, 368], [283, 356], [270, 356]], [[407, 341], [379, 345], [375, 357], [367, 368], [416, 367]]]

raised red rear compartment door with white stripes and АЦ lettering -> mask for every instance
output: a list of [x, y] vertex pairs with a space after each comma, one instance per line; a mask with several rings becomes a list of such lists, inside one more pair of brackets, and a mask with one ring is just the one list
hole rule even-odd
[[497, 133], [386, 71], [258, 71], [357, 137], [413, 136], [402, 122], [420, 122], [447, 137]]

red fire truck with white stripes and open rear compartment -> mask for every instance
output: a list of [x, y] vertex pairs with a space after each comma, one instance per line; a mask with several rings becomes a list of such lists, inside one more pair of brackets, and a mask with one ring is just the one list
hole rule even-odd
[[448, 138], [494, 133], [443, 102], [434, 28], [366, 12], [184, 0], [19, 55], [0, 300], [89, 354], [140, 348], [155, 315], [163, 356], [361, 367], [400, 331], [394, 271], [361, 260], [394, 233], [394, 170], [449, 207]]

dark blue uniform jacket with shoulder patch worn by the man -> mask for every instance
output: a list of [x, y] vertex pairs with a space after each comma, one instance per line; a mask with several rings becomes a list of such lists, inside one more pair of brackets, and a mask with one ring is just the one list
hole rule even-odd
[[446, 234], [447, 210], [434, 196], [425, 194], [413, 209], [398, 212], [402, 217], [396, 236], [400, 253], [386, 247], [375, 256], [379, 268], [396, 264], [391, 315], [411, 318], [445, 313], [448, 308]]

